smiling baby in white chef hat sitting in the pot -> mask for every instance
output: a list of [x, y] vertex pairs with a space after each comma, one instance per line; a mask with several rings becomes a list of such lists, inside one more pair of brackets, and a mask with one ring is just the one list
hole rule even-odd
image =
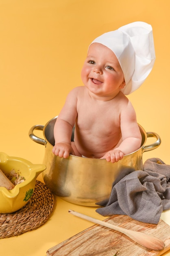
[[[155, 61], [152, 27], [133, 22], [96, 38], [81, 78], [54, 126], [52, 152], [118, 162], [141, 146], [135, 110], [125, 96], [144, 82]], [[74, 141], [71, 142], [75, 125]]]

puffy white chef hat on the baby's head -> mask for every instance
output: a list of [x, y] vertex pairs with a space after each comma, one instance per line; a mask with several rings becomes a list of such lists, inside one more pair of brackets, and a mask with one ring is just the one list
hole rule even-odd
[[[155, 48], [151, 25], [132, 22], [93, 40], [111, 49], [122, 68], [126, 85], [121, 91], [128, 95], [145, 81], [155, 62]], [[91, 43], [91, 44], [92, 44]]]

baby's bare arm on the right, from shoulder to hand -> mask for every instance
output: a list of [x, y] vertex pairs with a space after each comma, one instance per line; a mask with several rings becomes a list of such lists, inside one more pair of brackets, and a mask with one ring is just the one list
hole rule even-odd
[[118, 162], [124, 155], [133, 153], [141, 146], [141, 133], [136, 120], [136, 114], [130, 101], [120, 115], [120, 128], [122, 132], [122, 142], [113, 150], [108, 151], [102, 158], [107, 162]]

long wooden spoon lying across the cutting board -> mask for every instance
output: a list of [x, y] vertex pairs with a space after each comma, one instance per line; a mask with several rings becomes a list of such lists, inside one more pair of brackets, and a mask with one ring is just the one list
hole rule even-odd
[[112, 224], [110, 224], [108, 222], [104, 222], [102, 220], [97, 220], [95, 218], [84, 215], [83, 213], [78, 213], [76, 211], [69, 210], [68, 212], [77, 217], [83, 218], [85, 220], [89, 220], [91, 222], [102, 225], [104, 227], [109, 227], [110, 229], [117, 230], [117, 231], [125, 234], [126, 236], [129, 236], [132, 240], [134, 240], [138, 244], [140, 244], [148, 249], [155, 250], [155, 251], [161, 251], [165, 247], [165, 244], [163, 243], [163, 241], [156, 238], [155, 236], [150, 236], [150, 235], [144, 234], [139, 231], [124, 229], [122, 227], [112, 225]]

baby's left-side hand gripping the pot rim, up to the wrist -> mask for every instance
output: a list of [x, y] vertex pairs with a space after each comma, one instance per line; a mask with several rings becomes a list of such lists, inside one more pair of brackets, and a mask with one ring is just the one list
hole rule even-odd
[[68, 158], [70, 154], [74, 155], [74, 150], [72, 146], [67, 142], [56, 143], [52, 149], [52, 153], [58, 155], [59, 157]]

